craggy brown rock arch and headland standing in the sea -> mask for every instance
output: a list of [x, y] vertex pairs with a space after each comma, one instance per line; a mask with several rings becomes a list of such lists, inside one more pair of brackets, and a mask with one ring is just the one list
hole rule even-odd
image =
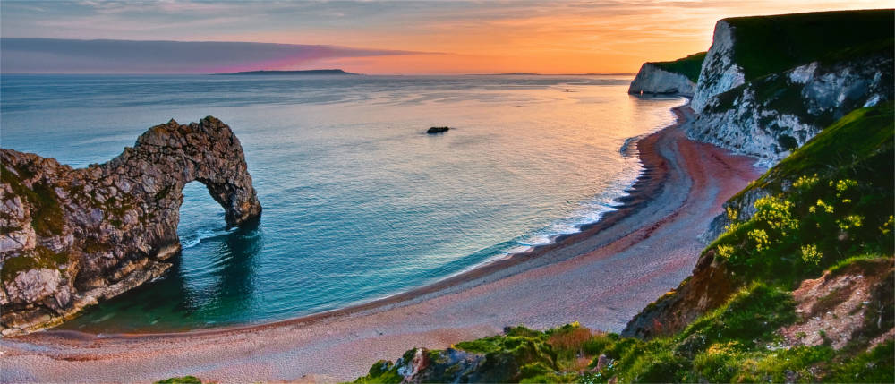
[[0, 160], [3, 335], [55, 325], [162, 275], [180, 251], [186, 183], [208, 187], [227, 226], [261, 213], [239, 140], [210, 116], [149, 128], [101, 165], [72, 169], [12, 149]]

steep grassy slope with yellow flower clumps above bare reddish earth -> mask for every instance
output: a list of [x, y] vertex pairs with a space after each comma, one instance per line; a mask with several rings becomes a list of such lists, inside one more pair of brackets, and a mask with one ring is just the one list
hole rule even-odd
[[[773, 196], [756, 205], [756, 217], [735, 224], [709, 249], [726, 255], [741, 278], [790, 285], [843, 257], [891, 254], [893, 122], [889, 102], [857, 109], [824, 129], [747, 187], [761, 186]], [[770, 243], [759, 246], [756, 231]], [[823, 253], [818, 260], [787, 257], [812, 246]]]

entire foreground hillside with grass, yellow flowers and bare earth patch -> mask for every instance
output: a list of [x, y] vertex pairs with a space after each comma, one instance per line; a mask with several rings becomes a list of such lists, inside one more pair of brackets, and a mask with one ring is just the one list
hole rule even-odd
[[410, 350], [356, 382], [892, 382], [893, 112], [846, 115], [750, 185], [772, 193], [751, 218], [729, 211], [702, 256], [731, 288], [686, 327], [649, 339], [516, 327]]

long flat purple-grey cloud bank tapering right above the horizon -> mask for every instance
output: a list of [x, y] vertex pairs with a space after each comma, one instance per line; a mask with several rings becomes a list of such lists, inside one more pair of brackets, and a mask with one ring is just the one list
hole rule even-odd
[[324, 59], [432, 53], [217, 41], [0, 38], [4, 73], [219, 73], [307, 69]]

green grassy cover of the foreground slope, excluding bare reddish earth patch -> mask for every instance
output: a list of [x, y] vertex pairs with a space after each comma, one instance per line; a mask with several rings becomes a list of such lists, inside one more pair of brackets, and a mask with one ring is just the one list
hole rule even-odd
[[[724, 254], [719, 262], [737, 272], [741, 288], [728, 303], [677, 334], [640, 340], [577, 325], [545, 332], [516, 328], [454, 347], [484, 354], [486, 362], [512, 365], [503, 376], [490, 376], [499, 381], [606, 382], [617, 377], [622, 382], [893, 382], [895, 346], [889, 341], [867, 350], [866, 342], [875, 333], [837, 351], [826, 345], [780, 348], [775, 332], [797, 321], [790, 291], [802, 279], [818, 277], [824, 269], [860, 268], [868, 260], [876, 266], [891, 265], [893, 110], [887, 103], [852, 112], [756, 182], [781, 192], [765, 201], [763, 214], [738, 223], [707, 249]], [[795, 182], [782, 192], [784, 184]], [[829, 212], [828, 205], [833, 207]], [[755, 229], [768, 235], [761, 249], [748, 235]], [[805, 245], [814, 246], [821, 256], [805, 255]], [[719, 252], [719, 247], [729, 248]], [[887, 305], [891, 312], [892, 303]], [[891, 328], [891, 320], [885, 321], [874, 332]], [[429, 353], [436, 358], [445, 354]], [[582, 367], [581, 360], [590, 363]], [[377, 363], [358, 382], [399, 382], [403, 377], [398, 368]], [[477, 368], [489, 369], [495, 369], [494, 364]]]

